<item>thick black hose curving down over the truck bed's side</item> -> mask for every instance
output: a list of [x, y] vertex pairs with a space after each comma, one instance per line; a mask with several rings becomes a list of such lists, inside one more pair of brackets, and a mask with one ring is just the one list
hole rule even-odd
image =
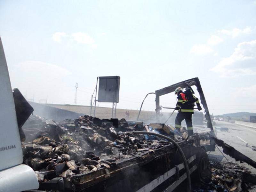
[[164, 136], [164, 135], [162, 135], [162, 134], [153, 133], [153, 132], [132, 131], [132, 132], [126, 132], [126, 133], [137, 133], [137, 134], [156, 135], [156, 136], [158, 136], [158, 137], [162, 137], [162, 138], [164, 138], [164, 139], [166, 139], [166, 140], [171, 141], [171, 142], [178, 148], [178, 150], [180, 151], [180, 154], [181, 154], [181, 157], [182, 157], [182, 160], [183, 160], [185, 169], [186, 169], [187, 178], [188, 178], [188, 192], [191, 192], [192, 189], [191, 189], [191, 179], [190, 179], [190, 173], [189, 173], [189, 168], [188, 168], [188, 162], [187, 162], [187, 159], [186, 159], [186, 157], [185, 157], [185, 155], [184, 155], [182, 149], [180, 148], [179, 144], [178, 144], [175, 140], [173, 140], [173, 139], [171, 139], [171, 138], [169, 138], [169, 137], [167, 137], [167, 136]]

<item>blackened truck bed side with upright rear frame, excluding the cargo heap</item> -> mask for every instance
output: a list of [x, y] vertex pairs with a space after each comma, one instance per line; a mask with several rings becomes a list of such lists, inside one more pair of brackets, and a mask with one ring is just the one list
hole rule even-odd
[[[198, 78], [192, 80], [196, 81], [194, 84], [198, 86]], [[159, 97], [161, 95], [173, 92], [177, 86], [186, 87], [194, 84], [187, 80], [185, 83], [181, 82], [156, 91], [157, 107], [159, 107]], [[204, 98], [203, 92], [200, 90], [199, 92], [202, 104], [207, 108], [205, 99], [202, 99]], [[213, 132], [213, 129], [211, 130]], [[126, 134], [133, 133], [126, 132]], [[211, 141], [211, 145], [196, 146], [193, 140], [185, 141], [180, 139], [177, 142], [188, 162], [190, 177], [195, 181], [200, 180], [208, 172], [207, 164], [209, 160], [206, 150], [211, 149], [211, 147], [214, 150], [215, 143], [213, 142], [212, 144]], [[133, 156], [121, 158], [111, 163], [110, 168], [101, 167], [97, 171], [74, 174], [70, 178], [53, 178], [47, 182], [40, 183], [39, 190], [57, 189], [63, 192], [187, 191], [187, 183], [189, 182], [183, 160], [177, 148], [172, 143], [169, 143], [161, 148], [138, 150]]]

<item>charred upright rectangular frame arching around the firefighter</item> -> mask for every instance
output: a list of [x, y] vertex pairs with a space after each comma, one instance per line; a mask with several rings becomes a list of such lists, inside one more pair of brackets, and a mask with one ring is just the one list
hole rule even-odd
[[[155, 93], [156, 93], [156, 109], [160, 107], [160, 96], [174, 92], [177, 87], [191, 88], [191, 86], [193, 86], [193, 85], [196, 86], [196, 90], [199, 93], [200, 101], [201, 101], [201, 104], [203, 105], [203, 108], [205, 111], [205, 118], [207, 120], [207, 128], [211, 129], [211, 131], [209, 133], [215, 137], [215, 133], [214, 133], [213, 127], [212, 127], [211, 116], [210, 116], [209, 109], [208, 109], [208, 106], [207, 106], [207, 103], [206, 103], [206, 100], [204, 97], [204, 92], [203, 92], [203, 89], [202, 89], [202, 86], [200, 84], [198, 77], [188, 79], [185, 81], [181, 81], [179, 83], [172, 84], [168, 87], [164, 87], [163, 89], [156, 90], [155, 91]], [[160, 115], [160, 112], [157, 111], [156, 112], [156, 120], [158, 122], [159, 122], [159, 115]], [[208, 145], [204, 145], [204, 148], [206, 149], [206, 151], [215, 151], [215, 141], [212, 139], [212, 137], [210, 139], [210, 143]]]

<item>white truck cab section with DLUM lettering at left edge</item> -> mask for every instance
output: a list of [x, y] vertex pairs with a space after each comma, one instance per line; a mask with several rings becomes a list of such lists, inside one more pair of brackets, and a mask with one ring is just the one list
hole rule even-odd
[[0, 192], [38, 189], [35, 172], [23, 156], [10, 77], [0, 37]]

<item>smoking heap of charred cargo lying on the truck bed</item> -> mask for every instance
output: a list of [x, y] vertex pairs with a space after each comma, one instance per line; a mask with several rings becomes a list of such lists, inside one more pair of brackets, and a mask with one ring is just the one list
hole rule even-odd
[[80, 116], [56, 123], [31, 116], [23, 130], [27, 138], [22, 142], [23, 161], [36, 171], [39, 182], [109, 169], [117, 160], [170, 145], [157, 137], [124, 134], [144, 130], [143, 125], [130, 125], [125, 119]]

